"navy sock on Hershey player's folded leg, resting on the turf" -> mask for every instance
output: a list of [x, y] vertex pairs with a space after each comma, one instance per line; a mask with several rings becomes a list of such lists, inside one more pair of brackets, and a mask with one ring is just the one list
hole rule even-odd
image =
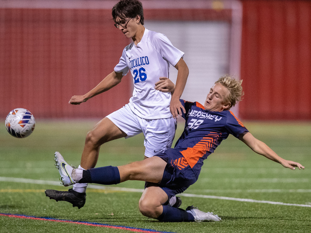
[[194, 222], [194, 217], [191, 213], [167, 205], [163, 206], [163, 212], [157, 219], [160, 222]]

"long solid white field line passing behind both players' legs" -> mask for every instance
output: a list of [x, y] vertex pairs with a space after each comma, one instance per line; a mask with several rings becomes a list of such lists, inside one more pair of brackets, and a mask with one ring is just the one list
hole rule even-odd
[[[30, 184], [39, 184], [39, 185], [58, 185], [58, 186], [63, 186], [63, 185], [60, 184], [60, 181], [33, 180], [33, 179], [24, 179], [24, 178], [2, 177], [2, 176], [0, 176], [0, 181], [16, 182], [16, 183], [30, 183]], [[142, 193], [144, 191], [143, 189], [129, 189], [129, 188], [107, 187], [107, 186], [102, 186], [102, 185], [88, 185], [88, 187], [91, 188], [91, 189], [115, 190], [115, 191], [137, 192], [137, 193]], [[221, 200], [253, 202], [253, 203], [267, 203], [267, 204], [273, 204], [273, 205], [311, 207], [311, 205], [283, 203], [283, 202], [274, 202], [274, 201], [259, 201], [259, 200], [254, 200], [254, 199], [233, 198], [233, 197], [221, 197], [221, 196], [186, 194], [186, 193], [181, 193], [181, 194], [178, 194], [178, 195], [179, 196], [184, 196], [184, 197], [221, 199]]]

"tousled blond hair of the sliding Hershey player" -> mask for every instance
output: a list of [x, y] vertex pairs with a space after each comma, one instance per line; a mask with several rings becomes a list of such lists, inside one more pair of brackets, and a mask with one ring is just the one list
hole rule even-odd
[[226, 74], [225, 76], [222, 76], [215, 82], [215, 84], [220, 83], [229, 91], [229, 94], [226, 96], [225, 100], [227, 103], [230, 103], [231, 105], [225, 110], [230, 110], [231, 107], [233, 107], [236, 103], [242, 100], [241, 97], [244, 95], [241, 86], [242, 81], [243, 80], [236, 80], [233, 78], [233, 76]]

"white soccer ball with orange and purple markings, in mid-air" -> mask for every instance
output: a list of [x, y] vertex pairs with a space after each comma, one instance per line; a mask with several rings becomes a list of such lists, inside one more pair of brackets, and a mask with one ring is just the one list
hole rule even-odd
[[15, 108], [7, 114], [5, 126], [13, 137], [26, 138], [35, 129], [35, 117], [25, 108]]

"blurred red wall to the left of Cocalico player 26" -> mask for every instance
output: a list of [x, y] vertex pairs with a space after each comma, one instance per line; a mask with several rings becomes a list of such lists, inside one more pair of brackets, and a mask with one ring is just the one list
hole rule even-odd
[[77, 105], [73, 95], [94, 88], [130, 43], [113, 26], [111, 10], [0, 9], [1, 117], [16, 107], [35, 117], [103, 117], [132, 96], [132, 76]]

